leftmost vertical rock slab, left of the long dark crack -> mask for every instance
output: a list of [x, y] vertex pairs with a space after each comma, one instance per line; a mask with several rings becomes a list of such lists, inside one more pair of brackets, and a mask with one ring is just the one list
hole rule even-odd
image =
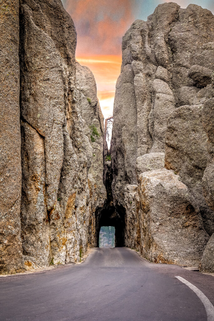
[[19, 1], [4, 1], [0, 17], [0, 273], [14, 273], [23, 268], [20, 223]]

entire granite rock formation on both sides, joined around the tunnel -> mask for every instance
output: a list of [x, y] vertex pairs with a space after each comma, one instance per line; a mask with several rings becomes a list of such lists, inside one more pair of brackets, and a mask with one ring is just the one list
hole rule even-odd
[[110, 161], [61, 1], [0, 10], [0, 273], [79, 262], [106, 225], [151, 262], [214, 272], [212, 13], [164, 3], [125, 33]]

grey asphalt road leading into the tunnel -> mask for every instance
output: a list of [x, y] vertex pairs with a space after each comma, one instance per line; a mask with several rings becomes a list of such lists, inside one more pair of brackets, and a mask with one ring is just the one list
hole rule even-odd
[[124, 247], [95, 248], [79, 265], [1, 277], [0, 320], [213, 321], [212, 305], [207, 319], [201, 299], [175, 276], [214, 304], [211, 275], [151, 264]]

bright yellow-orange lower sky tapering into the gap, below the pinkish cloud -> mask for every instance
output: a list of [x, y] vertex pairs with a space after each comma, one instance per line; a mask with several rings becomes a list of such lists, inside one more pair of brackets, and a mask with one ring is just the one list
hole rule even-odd
[[77, 56], [81, 65], [87, 65], [97, 82], [97, 95], [103, 116], [112, 115], [115, 85], [120, 74], [121, 55]]

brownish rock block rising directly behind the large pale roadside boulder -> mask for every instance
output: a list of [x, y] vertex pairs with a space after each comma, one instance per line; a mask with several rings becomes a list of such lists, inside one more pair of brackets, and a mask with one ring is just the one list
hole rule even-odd
[[205, 230], [212, 235], [214, 212], [207, 205], [202, 177], [207, 166], [207, 135], [202, 124], [202, 105], [176, 108], [167, 122], [165, 167], [178, 173], [199, 205]]

